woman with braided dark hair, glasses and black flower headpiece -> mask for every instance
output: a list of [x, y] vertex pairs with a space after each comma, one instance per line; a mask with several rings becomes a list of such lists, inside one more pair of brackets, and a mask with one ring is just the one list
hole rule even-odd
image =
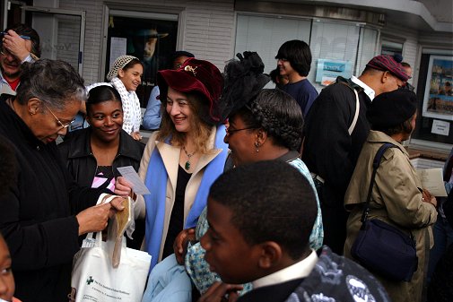
[[[298, 152], [303, 127], [301, 108], [286, 92], [263, 90], [270, 78], [263, 73], [264, 64], [257, 53], [245, 52], [244, 56], [239, 57], [240, 61], [231, 61], [225, 67], [225, 87], [221, 99], [222, 116], [229, 116], [224, 142], [229, 144], [233, 165], [245, 165], [261, 160], [286, 161], [307, 177], [316, 193], [309, 169], [300, 159]], [[189, 302], [192, 287], [187, 273], [202, 295], [214, 281], [221, 280], [216, 273], [210, 272], [209, 264], [204, 259], [205, 250], [199, 243], [187, 248], [187, 241], [199, 239], [207, 229], [205, 210], [200, 215], [196, 229], [185, 229], [175, 242], [176, 261], [185, 266], [175, 266], [170, 262], [170, 257], [158, 264], [151, 272], [143, 301]], [[322, 216], [318, 204], [318, 218], [309, 238], [310, 246], [314, 249], [321, 247], [323, 237]], [[178, 277], [167, 278], [169, 274]], [[164, 275], [166, 277], [162, 277]], [[170, 282], [164, 284], [162, 280]], [[251, 289], [250, 284], [246, 284], [244, 289]], [[184, 291], [187, 296], [177, 296]], [[209, 293], [215, 296], [218, 290], [211, 289]], [[211, 298], [218, 298], [220, 302], [222, 296]]]

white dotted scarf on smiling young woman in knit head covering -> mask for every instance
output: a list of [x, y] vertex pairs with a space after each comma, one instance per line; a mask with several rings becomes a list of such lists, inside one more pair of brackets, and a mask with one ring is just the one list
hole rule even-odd
[[119, 92], [121, 101], [123, 102], [123, 129], [127, 134], [140, 131], [140, 125], [142, 124], [142, 109], [140, 108], [140, 100], [138, 99], [137, 94], [135, 91], [126, 91], [125, 85], [118, 77], [114, 77], [110, 82]]

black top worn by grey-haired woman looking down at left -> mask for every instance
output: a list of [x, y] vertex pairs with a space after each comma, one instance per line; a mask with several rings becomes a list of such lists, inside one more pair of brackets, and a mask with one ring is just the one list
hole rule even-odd
[[75, 214], [106, 190], [76, 186], [55, 142], [40, 142], [0, 99], [0, 135], [13, 144], [13, 185], [0, 196], [0, 230], [10, 248], [22, 301], [67, 301], [71, 266], [78, 251]]

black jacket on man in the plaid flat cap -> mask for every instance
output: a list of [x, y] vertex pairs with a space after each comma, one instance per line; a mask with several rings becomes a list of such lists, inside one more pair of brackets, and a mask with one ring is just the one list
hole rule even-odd
[[310, 172], [326, 181], [323, 203], [343, 207], [344, 193], [353, 176], [370, 125], [366, 117], [371, 100], [359, 88], [360, 112], [353, 134], [348, 133], [355, 114], [353, 91], [342, 83], [327, 86], [306, 118], [302, 160]]

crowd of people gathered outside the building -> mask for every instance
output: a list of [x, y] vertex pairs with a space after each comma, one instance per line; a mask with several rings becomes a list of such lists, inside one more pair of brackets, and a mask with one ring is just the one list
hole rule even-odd
[[[257, 52], [222, 73], [176, 51], [142, 120], [135, 56], [85, 86], [68, 63], [39, 58], [25, 24], [4, 30], [0, 47], [0, 300], [67, 301], [81, 237], [124, 209], [96, 205], [101, 194], [135, 201], [127, 246], [152, 255], [144, 302], [453, 298], [453, 194], [423, 188], [403, 145], [419, 106], [401, 56], [375, 56], [318, 93], [298, 39], [278, 49], [270, 75]], [[69, 133], [76, 116], [88, 126]], [[141, 126], [152, 129], [146, 144]], [[150, 194], [135, 193], [126, 166]], [[414, 238], [410, 280], [354, 258], [364, 209]]]

